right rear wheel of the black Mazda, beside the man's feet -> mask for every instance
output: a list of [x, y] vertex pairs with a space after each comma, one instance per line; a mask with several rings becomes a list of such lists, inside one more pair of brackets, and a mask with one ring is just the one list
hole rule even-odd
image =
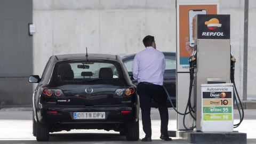
[[126, 140], [139, 140], [139, 120], [126, 128]]

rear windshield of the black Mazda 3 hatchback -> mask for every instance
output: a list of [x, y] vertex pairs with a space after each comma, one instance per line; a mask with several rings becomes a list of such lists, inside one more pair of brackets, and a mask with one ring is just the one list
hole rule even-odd
[[62, 61], [54, 67], [55, 83], [91, 84], [99, 81], [114, 81], [122, 77], [116, 61]]

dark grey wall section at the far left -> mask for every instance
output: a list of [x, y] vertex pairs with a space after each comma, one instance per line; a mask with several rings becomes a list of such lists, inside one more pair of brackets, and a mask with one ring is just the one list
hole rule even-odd
[[0, 109], [6, 105], [31, 105], [33, 86], [33, 0], [0, 0]]

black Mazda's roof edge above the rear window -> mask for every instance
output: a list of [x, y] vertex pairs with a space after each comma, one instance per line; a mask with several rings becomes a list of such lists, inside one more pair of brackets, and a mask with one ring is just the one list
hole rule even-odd
[[76, 60], [76, 59], [101, 59], [101, 60], [118, 60], [121, 59], [119, 55], [113, 54], [97, 54], [97, 53], [78, 53], [78, 54], [62, 54], [55, 55], [57, 60]]

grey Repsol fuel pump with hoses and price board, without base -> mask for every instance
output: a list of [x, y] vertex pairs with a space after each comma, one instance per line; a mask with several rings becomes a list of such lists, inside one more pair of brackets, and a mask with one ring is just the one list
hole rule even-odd
[[[222, 23], [220, 23], [220, 20]], [[238, 96], [238, 93], [234, 81], [236, 59], [232, 54], [230, 57], [229, 20], [230, 15], [199, 14], [195, 17], [195, 51], [188, 60], [190, 84], [185, 113], [182, 114], [173, 107], [178, 114], [183, 115], [183, 126], [186, 130], [202, 131], [204, 124], [208, 125], [205, 126], [206, 129], [211, 129], [211, 126], [209, 126], [211, 124], [213, 125], [213, 130], [204, 129], [204, 131], [216, 131], [218, 130], [218, 125], [222, 126], [222, 124], [219, 124], [221, 122], [224, 124], [221, 129], [228, 125], [227, 130], [223, 131], [233, 131], [233, 105], [235, 102], [238, 103], [236, 97], [233, 99], [233, 94]], [[205, 29], [203, 29], [202, 23], [206, 25]], [[208, 91], [209, 87], [210, 91]], [[195, 98], [191, 99], [193, 89]], [[207, 91], [202, 92], [203, 89]], [[191, 101], [193, 100], [195, 104], [192, 106]], [[238, 100], [242, 103], [239, 96]], [[243, 121], [242, 105], [241, 108], [242, 115], [238, 106], [241, 121], [235, 124], [235, 127], [239, 126]], [[190, 125], [190, 127], [185, 124], [187, 114], [190, 114], [194, 119], [194, 125]]]

